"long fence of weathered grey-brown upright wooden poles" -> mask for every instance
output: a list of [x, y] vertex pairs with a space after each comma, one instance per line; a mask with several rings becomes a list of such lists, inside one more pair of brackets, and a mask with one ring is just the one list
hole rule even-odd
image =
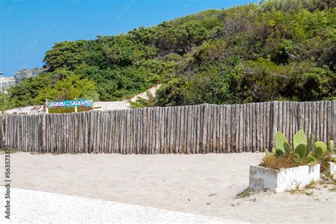
[[336, 101], [268, 102], [4, 114], [0, 147], [51, 153], [255, 152], [273, 145], [277, 130], [292, 142], [300, 128], [316, 140], [335, 139]]

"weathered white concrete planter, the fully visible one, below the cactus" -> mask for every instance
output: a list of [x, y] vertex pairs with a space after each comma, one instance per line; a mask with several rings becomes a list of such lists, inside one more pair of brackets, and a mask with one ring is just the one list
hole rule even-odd
[[320, 179], [320, 164], [286, 169], [269, 169], [251, 165], [250, 184], [252, 191], [269, 189], [277, 192], [289, 191], [303, 187], [311, 181]]

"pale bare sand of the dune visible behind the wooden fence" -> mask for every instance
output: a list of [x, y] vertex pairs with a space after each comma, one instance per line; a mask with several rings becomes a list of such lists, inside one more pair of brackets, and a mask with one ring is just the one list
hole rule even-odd
[[[150, 92], [150, 94], [155, 96], [155, 92], [157, 89], [159, 89], [160, 85], [153, 86], [152, 88], [148, 89], [147, 91]], [[130, 101], [137, 101], [138, 98], [142, 99], [148, 99], [147, 91], [138, 94], [134, 96]], [[130, 103], [128, 103], [128, 100], [124, 101], [97, 101], [94, 102], [94, 109], [95, 111], [111, 111], [111, 110], [124, 110], [130, 108]], [[45, 113], [45, 111], [42, 111], [43, 106], [25, 106], [21, 108], [15, 108], [6, 111], [6, 113]]]

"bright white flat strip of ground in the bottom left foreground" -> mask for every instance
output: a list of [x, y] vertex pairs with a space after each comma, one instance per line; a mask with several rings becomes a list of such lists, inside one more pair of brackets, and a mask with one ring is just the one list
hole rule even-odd
[[[245, 223], [26, 189], [11, 189], [11, 205], [16, 223]], [[0, 222], [6, 221], [1, 215]]]

